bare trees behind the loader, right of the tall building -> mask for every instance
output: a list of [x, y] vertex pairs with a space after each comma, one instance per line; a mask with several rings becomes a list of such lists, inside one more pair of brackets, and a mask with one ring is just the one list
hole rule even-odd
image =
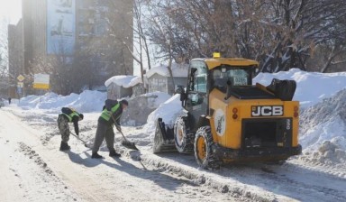
[[263, 72], [336, 70], [345, 63], [343, 0], [135, 0], [144, 35], [167, 60], [259, 60]]

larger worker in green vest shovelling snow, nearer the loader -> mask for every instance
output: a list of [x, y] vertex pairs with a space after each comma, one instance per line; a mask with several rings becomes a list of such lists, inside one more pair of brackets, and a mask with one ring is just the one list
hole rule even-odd
[[105, 143], [107, 144], [109, 156], [121, 156], [120, 153], [115, 152], [114, 149], [113, 126], [115, 124], [116, 129], [119, 132], [122, 132], [122, 127], [120, 126], [120, 118], [123, 114], [123, 111], [126, 110], [127, 106], [129, 106], [129, 103], [125, 99], [119, 102], [112, 99], [105, 100], [104, 110], [102, 111], [97, 121], [96, 136], [91, 158], [103, 159], [103, 156], [99, 155], [97, 152], [102, 142], [104, 142], [104, 139]]

